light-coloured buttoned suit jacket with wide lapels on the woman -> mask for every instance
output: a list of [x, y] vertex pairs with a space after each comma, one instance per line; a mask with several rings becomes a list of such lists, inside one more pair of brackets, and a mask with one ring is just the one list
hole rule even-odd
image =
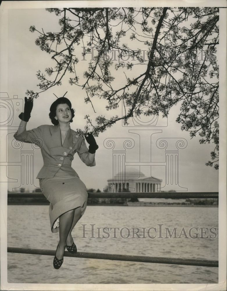
[[25, 143], [36, 143], [39, 145], [44, 165], [36, 178], [53, 178], [59, 169], [72, 176], [78, 176], [71, 167], [74, 154], [77, 152], [81, 160], [87, 166], [95, 166], [88, 158], [88, 148], [85, 139], [78, 136], [76, 132], [69, 129], [62, 145], [59, 125], [41, 125], [31, 130], [25, 130], [21, 134], [14, 134], [16, 140]]

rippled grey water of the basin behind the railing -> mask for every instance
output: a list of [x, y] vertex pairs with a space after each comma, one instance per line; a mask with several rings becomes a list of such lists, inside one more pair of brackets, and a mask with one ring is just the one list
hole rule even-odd
[[[94, 226], [94, 238], [90, 232]], [[162, 226], [160, 235], [159, 229]], [[97, 228], [115, 227], [109, 231], [108, 239], [98, 238]], [[123, 230], [122, 228], [125, 227]], [[145, 231], [139, 239], [132, 228], [150, 227], [150, 236]], [[165, 227], [172, 232], [177, 227], [180, 236], [184, 228], [187, 237], [165, 238]], [[218, 237], [209, 239], [191, 238], [191, 227], [211, 227], [218, 231], [217, 207], [127, 207], [127, 206], [88, 206], [85, 214], [74, 228], [73, 237], [78, 251], [96, 253], [116, 253], [124, 255], [146, 255], [172, 258], [200, 258], [218, 260]], [[128, 234], [130, 236], [126, 237]], [[205, 232], [205, 230], [204, 230]], [[213, 229], [213, 232], [214, 229]], [[184, 232], [183, 232], [184, 233]], [[212, 237], [214, 234], [210, 233]], [[192, 235], [194, 232], [192, 231]], [[206, 237], [208, 234], [204, 234]], [[108, 235], [104, 234], [105, 237]], [[160, 237], [160, 238], [158, 238]], [[58, 234], [51, 233], [46, 205], [9, 205], [8, 206], [8, 246], [36, 249], [56, 249]], [[83, 258], [64, 258], [59, 270], [53, 268], [53, 257], [45, 255], [27, 255], [8, 253], [8, 283], [217, 283], [218, 268], [156, 263], [124, 262]]]

